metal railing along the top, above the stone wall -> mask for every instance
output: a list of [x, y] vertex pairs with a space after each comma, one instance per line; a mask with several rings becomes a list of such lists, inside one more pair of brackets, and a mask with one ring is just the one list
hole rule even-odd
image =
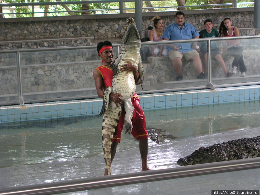
[[[155, 0], [159, 1], [159, 0]], [[46, 14], [46, 13], [72, 13], [72, 12], [97, 12], [97, 11], [115, 11], [124, 13], [124, 10], [135, 10], [135, 8], [124, 8], [123, 3], [134, 2], [134, 0], [95, 0], [95, 1], [55, 1], [55, 2], [34, 2], [34, 3], [0, 3], [0, 7], [8, 9], [21, 6], [44, 6], [44, 5], [73, 5], [73, 4], [94, 4], [94, 3], [118, 3], [117, 8], [111, 9], [89, 9], [89, 10], [66, 10], [66, 11], [48, 11], [48, 12], [18, 12], [18, 13], [0, 13], [0, 15], [17, 15], [17, 14]], [[160, 6], [160, 7], [143, 7], [142, 10], [148, 9], [167, 9], [167, 8], [194, 8], [194, 7], [209, 7], [209, 6], [230, 6], [236, 8], [237, 5], [252, 5], [254, 2], [239, 2], [236, 0], [233, 3], [221, 3], [221, 4], [202, 4], [202, 5], [183, 5], [183, 6]]]

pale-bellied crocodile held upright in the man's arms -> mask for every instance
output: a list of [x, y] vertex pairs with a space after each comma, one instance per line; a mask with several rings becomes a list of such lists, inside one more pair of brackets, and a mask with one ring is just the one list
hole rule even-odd
[[[104, 158], [106, 162], [106, 171], [108, 175], [111, 175], [111, 144], [112, 138], [115, 132], [115, 127], [118, 123], [119, 117], [124, 107], [125, 114], [125, 127], [126, 133], [129, 134], [132, 131], [132, 116], [133, 116], [133, 104], [131, 97], [135, 93], [136, 85], [133, 71], [127, 73], [127, 71], [121, 71], [122, 65], [126, 64], [126, 60], [137, 66], [138, 73], [140, 75], [140, 84], [142, 86], [144, 79], [144, 71], [142, 67], [142, 60], [140, 55], [141, 41], [138, 30], [136, 28], [133, 18], [128, 18], [125, 26], [125, 33], [121, 39], [120, 50], [121, 52], [114, 60], [111, 68], [114, 72], [112, 87], [105, 88], [103, 94], [103, 107], [99, 116], [102, 114], [102, 144], [104, 151]], [[110, 93], [120, 93], [123, 95], [123, 105], [117, 107], [112, 101], [109, 101]]]

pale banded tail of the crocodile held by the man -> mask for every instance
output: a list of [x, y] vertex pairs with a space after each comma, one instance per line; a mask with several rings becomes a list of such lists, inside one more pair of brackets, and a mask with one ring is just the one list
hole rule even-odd
[[107, 112], [103, 116], [102, 123], [102, 144], [107, 174], [111, 175], [111, 144], [116, 125], [120, 118], [122, 107], [113, 108], [109, 102]]

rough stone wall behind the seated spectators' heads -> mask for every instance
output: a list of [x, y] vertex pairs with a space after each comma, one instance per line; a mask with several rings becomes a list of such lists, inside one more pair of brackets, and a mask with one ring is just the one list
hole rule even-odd
[[[184, 13], [186, 14], [185, 21], [193, 24], [198, 31], [204, 28], [203, 22], [206, 18], [212, 19], [214, 28], [218, 28], [220, 22], [226, 16], [229, 16], [233, 25], [238, 28], [254, 27], [253, 8], [185, 10]], [[175, 12], [144, 12], [142, 17], [143, 29], [153, 25], [151, 19], [155, 14], [164, 20], [165, 27], [174, 22]], [[0, 40], [17, 41], [77, 37], [119, 38], [122, 37], [125, 21], [128, 17], [134, 18], [134, 13], [26, 18], [26, 21], [23, 18], [3, 18], [0, 20]], [[49, 47], [49, 45], [42, 45], [41, 47]]]

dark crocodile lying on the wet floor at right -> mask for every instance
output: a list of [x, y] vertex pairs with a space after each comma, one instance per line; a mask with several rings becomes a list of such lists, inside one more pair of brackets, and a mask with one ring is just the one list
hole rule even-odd
[[260, 157], [260, 136], [201, 147], [191, 155], [180, 158], [177, 164], [185, 166], [255, 157]]

